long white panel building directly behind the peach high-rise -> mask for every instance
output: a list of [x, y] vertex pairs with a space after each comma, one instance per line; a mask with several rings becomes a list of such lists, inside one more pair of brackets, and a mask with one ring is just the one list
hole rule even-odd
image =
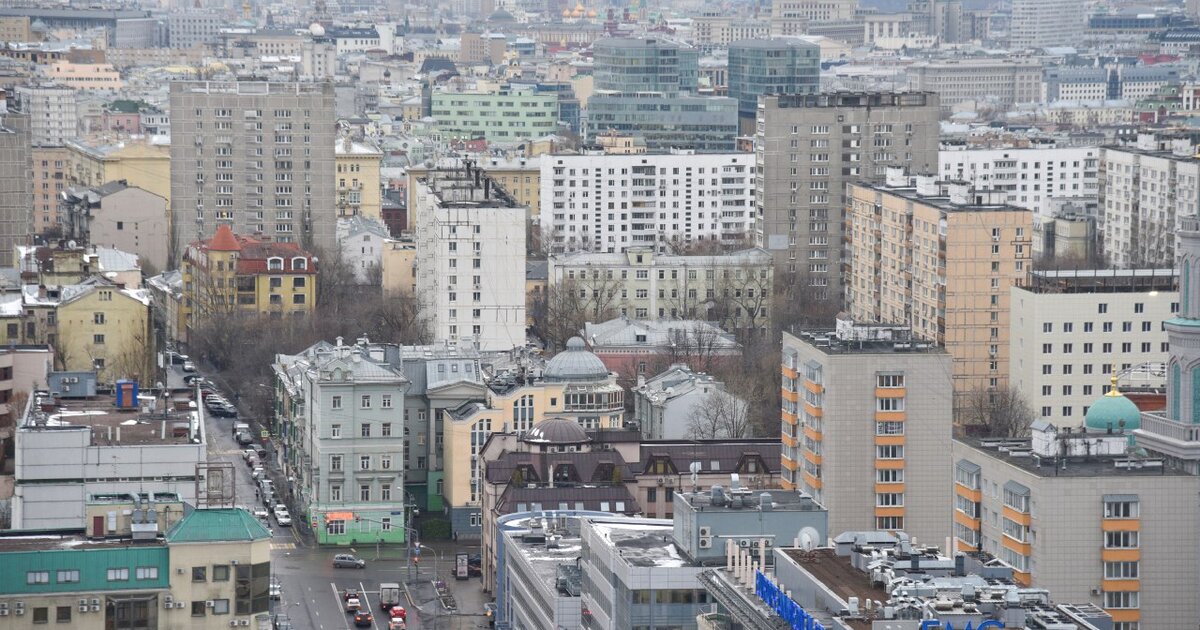
[[1050, 217], [1051, 199], [1099, 194], [1098, 146], [966, 149], [942, 144], [938, 179], [968, 181], [974, 188], [1004, 191], [1009, 205]]

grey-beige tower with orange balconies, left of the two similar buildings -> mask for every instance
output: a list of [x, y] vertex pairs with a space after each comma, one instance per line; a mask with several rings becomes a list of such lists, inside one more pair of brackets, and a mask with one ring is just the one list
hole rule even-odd
[[[950, 356], [907, 326], [784, 332], [781, 485], [830, 532], [950, 533]], [[868, 420], [871, 419], [871, 420]]]

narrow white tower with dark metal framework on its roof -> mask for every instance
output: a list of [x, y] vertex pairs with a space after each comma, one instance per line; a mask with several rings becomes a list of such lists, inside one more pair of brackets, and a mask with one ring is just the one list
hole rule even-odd
[[524, 346], [524, 206], [470, 163], [415, 184], [416, 298], [433, 338]]

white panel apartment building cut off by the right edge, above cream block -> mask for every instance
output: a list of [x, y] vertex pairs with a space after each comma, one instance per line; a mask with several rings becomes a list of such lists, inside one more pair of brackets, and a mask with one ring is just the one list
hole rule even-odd
[[1144, 134], [1134, 148], [1100, 155], [1099, 204], [1108, 263], [1122, 268], [1174, 266], [1176, 218], [1200, 208], [1200, 160], [1186, 142]]

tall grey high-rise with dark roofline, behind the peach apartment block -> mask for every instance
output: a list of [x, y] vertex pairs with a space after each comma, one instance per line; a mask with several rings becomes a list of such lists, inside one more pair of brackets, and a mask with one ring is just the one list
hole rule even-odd
[[763, 96], [755, 137], [755, 244], [817, 294], [841, 295], [846, 184], [937, 168], [937, 95]]

